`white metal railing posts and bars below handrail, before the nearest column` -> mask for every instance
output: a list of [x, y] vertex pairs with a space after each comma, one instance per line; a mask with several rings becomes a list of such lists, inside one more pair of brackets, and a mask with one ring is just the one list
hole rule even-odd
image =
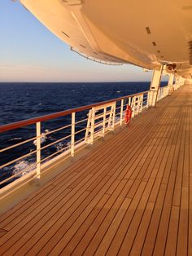
[[[148, 108], [147, 99], [148, 91], [137, 95], [126, 96], [123, 99], [114, 99], [114, 101], [111, 100], [110, 102], [96, 104], [95, 107], [89, 108], [88, 106], [86, 107], [86, 109], [82, 108], [82, 112], [85, 112], [85, 117], [81, 120], [77, 119], [78, 117], [76, 117], [76, 113], [79, 113], [79, 111], [75, 108], [74, 112], [70, 111], [68, 115], [63, 116], [63, 119], [66, 116], [71, 116], [70, 124], [59, 127], [55, 130], [46, 131], [44, 133], [42, 133], [41, 130], [42, 121], [37, 121], [35, 122], [36, 136], [33, 136], [30, 139], [26, 139], [20, 143], [15, 143], [7, 148], [2, 148], [0, 152], [8, 152], [9, 150], [18, 147], [22, 148], [25, 143], [31, 143], [31, 145], [33, 145], [34, 141], [36, 148], [31, 151], [28, 150], [29, 152], [25, 153], [21, 157], [17, 157], [11, 161], [4, 163], [2, 166], [0, 166], [0, 170], [3, 170], [8, 166], [12, 166], [18, 163], [18, 161], [23, 161], [24, 159], [26, 159], [26, 157], [36, 155], [36, 164], [34, 166], [35, 174], [33, 178], [40, 179], [41, 170], [45, 162], [52, 160], [54, 157], [58, 157], [60, 153], [64, 153], [66, 157], [74, 157], [76, 152], [86, 144], [93, 144], [95, 139], [98, 139], [99, 137], [104, 137], [109, 131], [115, 130], [117, 126], [123, 126], [124, 111], [127, 104], [132, 107], [133, 117], [136, 117], [137, 115], [142, 113], [143, 109]], [[41, 120], [41, 117], [39, 117], [39, 119]], [[76, 126], [80, 125], [81, 129], [76, 129]], [[61, 139], [57, 139], [54, 142], [48, 143], [46, 145], [41, 144], [41, 140], [43, 138], [46, 138], [50, 134], [52, 135], [54, 133], [64, 130], [68, 130], [68, 135], [65, 135]], [[46, 157], [42, 157], [41, 152], [43, 150], [67, 140], [67, 146], [60, 148], [58, 151], [53, 152]], [[3, 186], [3, 184], [6, 183], [10, 183], [13, 179], [23, 176], [23, 174], [27, 172], [28, 168], [25, 168], [24, 170], [20, 170], [17, 173], [12, 174], [11, 177], [2, 180], [0, 182], [0, 186]]]

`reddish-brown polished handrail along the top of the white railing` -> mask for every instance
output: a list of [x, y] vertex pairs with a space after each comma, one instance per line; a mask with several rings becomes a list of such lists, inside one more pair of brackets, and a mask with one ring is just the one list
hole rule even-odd
[[17, 128], [21, 128], [21, 127], [24, 127], [24, 126], [33, 125], [33, 124], [36, 124], [39, 121], [48, 121], [48, 120], [51, 120], [51, 119], [54, 119], [54, 118], [57, 118], [57, 117], [64, 117], [64, 116], [67, 116], [71, 113], [78, 113], [78, 112], [81, 112], [81, 111], [84, 111], [84, 110], [87, 110], [87, 109], [90, 109], [90, 108], [95, 108], [95, 107], [98, 107], [98, 106], [101, 106], [101, 105], [104, 105], [104, 104], [109, 104], [109, 103], [112, 103], [114, 101], [119, 101], [121, 99], [127, 99], [128, 97], [134, 97], [134, 96], [145, 94], [145, 93], [148, 93], [148, 92], [149, 92], [149, 90], [141, 91], [137, 94], [126, 95], [126, 96], [123, 96], [123, 97], [120, 97], [120, 98], [98, 102], [96, 104], [89, 104], [89, 105], [85, 105], [85, 106], [82, 106], [82, 107], [79, 107], [79, 108], [71, 108], [71, 109], [68, 109], [68, 110], [59, 111], [59, 112], [56, 112], [56, 113], [51, 113], [51, 114], [41, 116], [41, 117], [34, 117], [34, 118], [23, 120], [23, 121], [15, 121], [15, 122], [12, 122], [11, 124], [0, 126], [0, 132], [4, 132], [4, 131], [8, 131], [8, 130], [15, 130]]

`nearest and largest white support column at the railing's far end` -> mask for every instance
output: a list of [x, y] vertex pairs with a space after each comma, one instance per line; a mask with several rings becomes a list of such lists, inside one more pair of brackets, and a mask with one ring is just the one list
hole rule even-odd
[[162, 71], [163, 71], [163, 65], [160, 67], [159, 70], [154, 70], [153, 77], [151, 80], [149, 106], [153, 108], [155, 108], [155, 104], [157, 101], [157, 95], [158, 95]]

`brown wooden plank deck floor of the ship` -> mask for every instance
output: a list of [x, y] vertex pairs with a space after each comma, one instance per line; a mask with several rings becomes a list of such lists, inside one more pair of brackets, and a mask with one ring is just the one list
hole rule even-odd
[[192, 255], [192, 85], [0, 217], [2, 255]]

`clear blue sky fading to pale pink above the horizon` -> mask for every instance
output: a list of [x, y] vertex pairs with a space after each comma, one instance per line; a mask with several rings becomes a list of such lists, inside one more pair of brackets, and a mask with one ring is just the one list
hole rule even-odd
[[149, 81], [151, 72], [109, 66], [70, 51], [20, 1], [0, 1], [0, 82]]

